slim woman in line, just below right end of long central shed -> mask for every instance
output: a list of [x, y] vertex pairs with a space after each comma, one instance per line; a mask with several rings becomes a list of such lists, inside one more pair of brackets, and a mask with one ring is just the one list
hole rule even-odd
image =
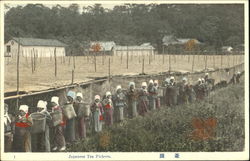
[[148, 100], [149, 100], [149, 109], [156, 109], [155, 99], [157, 98], [156, 88], [154, 86], [154, 82], [151, 79], [148, 84]]

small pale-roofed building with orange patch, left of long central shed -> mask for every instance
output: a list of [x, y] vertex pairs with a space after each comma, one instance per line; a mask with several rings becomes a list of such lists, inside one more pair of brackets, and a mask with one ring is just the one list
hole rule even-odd
[[113, 55], [116, 44], [114, 41], [92, 41], [90, 42], [90, 54], [96, 53], [97, 55]]

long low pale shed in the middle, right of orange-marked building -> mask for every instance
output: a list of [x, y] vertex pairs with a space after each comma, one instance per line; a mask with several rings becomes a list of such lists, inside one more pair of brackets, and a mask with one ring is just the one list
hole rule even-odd
[[144, 43], [140, 46], [116, 46], [115, 47], [115, 55], [123, 55], [128, 54], [129, 55], [153, 55], [155, 48], [150, 45], [150, 43]]

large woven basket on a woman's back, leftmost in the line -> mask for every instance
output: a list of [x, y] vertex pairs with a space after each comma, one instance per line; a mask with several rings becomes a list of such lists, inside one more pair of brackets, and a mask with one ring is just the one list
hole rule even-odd
[[41, 133], [45, 131], [46, 126], [46, 116], [42, 113], [35, 112], [30, 114], [33, 120], [33, 125], [31, 127], [31, 133]]

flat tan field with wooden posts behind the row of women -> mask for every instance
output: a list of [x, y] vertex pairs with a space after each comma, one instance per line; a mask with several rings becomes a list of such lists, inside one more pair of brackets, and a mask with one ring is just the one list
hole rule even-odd
[[[194, 63], [193, 63], [194, 58]], [[222, 64], [221, 64], [222, 58]], [[74, 61], [75, 59], [75, 61]], [[192, 72], [205, 68], [216, 69], [231, 67], [244, 62], [243, 55], [209, 56], [209, 55], [155, 55], [144, 57], [144, 73], [153, 74], [167, 72], [169, 63], [171, 71]], [[207, 63], [206, 63], [207, 59]], [[109, 75], [133, 75], [142, 73], [143, 57], [129, 56], [127, 69], [127, 56], [97, 56], [96, 71], [95, 58], [87, 56], [57, 57], [57, 76], [55, 77], [55, 59], [37, 58], [34, 73], [32, 73], [31, 57], [20, 56], [20, 91], [37, 91], [71, 84], [72, 70], [74, 69], [74, 83], [90, 80], [92, 77]], [[5, 58], [4, 91], [16, 91], [17, 86], [17, 58]], [[75, 62], [75, 63], [74, 63]], [[207, 64], [207, 65], [206, 65]], [[222, 66], [221, 66], [222, 65]]]

